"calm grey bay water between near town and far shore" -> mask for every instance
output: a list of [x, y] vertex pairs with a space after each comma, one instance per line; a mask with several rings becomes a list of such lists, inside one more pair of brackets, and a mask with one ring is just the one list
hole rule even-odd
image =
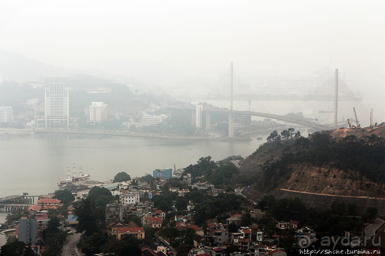
[[[263, 140], [223, 142], [89, 134], [0, 134], [0, 198], [29, 192], [53, 192], [67, 167], [82, 167], [91, 180], [106, 181], [120, 171], [132, 177], [156, 168], [185, 168], [201, 156], [222, 160], [250, 155]], [[72, 170], [72, 168], [70, 168]]]

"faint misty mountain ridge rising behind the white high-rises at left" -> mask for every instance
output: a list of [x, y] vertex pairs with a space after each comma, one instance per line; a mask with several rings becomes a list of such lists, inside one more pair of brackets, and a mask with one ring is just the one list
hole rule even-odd
[[[33, 60], [20, 53], [0, 50], [0, 78], [4, 81], [44, 81], [47, 77], [67, 77], [74, 74], [93, 75], [120, 84], [132, 85], [139, 93], [172, 94], [176, 87], [202, 84], [181, 70], [157, 62], [115, 59], [96, 64], [96, 68], [77, 70], [53, 66]], [[173, 85], [174, 87], [170, 87]]]

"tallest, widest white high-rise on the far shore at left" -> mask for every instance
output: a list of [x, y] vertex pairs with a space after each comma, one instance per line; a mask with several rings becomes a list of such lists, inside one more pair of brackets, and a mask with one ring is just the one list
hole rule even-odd
[[69, 125], [69, 91], [64, 83], [49, 83], [45, 89], [45, 127], [63, 127]]

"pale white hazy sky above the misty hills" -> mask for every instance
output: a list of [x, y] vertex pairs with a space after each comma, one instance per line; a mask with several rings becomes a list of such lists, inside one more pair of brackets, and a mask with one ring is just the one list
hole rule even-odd
[[385, 1], [0, 3], [0, 48], [57, 66], [123, 58], [190, 74], [384, 71]]

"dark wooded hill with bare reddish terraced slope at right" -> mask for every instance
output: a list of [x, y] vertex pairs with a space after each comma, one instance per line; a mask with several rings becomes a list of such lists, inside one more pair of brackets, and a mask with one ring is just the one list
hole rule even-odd
[[308, 137], [285, 137], [273, 132], [266, 144], [241, 163], [247, 166], [258, 162], [260, 155], [266, 160], [260, 167], [261, 178], [246, 192], [256, 196], [256, 200], [258, 195], [277, 190], [282, 196], [282, 191], [294, 191], [385, 199], [385, 141], [377, 135], [384, 132], [384, 125], [360, 129], [359, 137], [338, 130]]

